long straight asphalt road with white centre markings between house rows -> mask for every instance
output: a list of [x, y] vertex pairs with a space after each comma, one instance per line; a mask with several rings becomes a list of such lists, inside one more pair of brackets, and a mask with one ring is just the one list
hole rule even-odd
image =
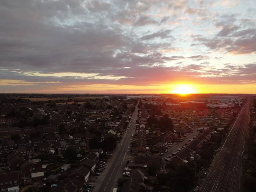
[[131, 125], [129, 126], [129, 129], [127, 130], [127, 133], [124, 135], [125, 139], [122, 141], [120, 148], [116, 149], [112, 160], [113, 164], [108, 170], [108, 174], [106, 175], [105, 179], [102, 181], [102, 184], [98, 190], [98, 192], [112, 192], [111, 190], [116, 178], [116, 175], [118, 175], [118, 172], [120, 169], [122, 169], [122, 161], [125, 157], [125, 152], [128, 149], [128, 145], [130, 145], [130, 139], [133, 132], [133, 127], [136, 125], [136, 119], [138, 116], [138, 105], [139, 102], [136, 105], [136, 109], [134, 113], [131, 116]]

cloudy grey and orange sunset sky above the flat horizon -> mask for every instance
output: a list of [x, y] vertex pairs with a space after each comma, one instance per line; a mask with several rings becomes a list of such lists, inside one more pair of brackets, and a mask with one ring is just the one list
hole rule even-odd
[[256, 93], [255, 0], [0, 0], [0, 18], [0, 93]]

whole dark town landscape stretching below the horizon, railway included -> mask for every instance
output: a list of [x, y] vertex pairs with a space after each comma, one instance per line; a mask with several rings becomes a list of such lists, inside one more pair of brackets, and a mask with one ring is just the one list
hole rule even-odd
[[248, 191], [255, 107], [245, 94], [2, 93], [0, 190]]

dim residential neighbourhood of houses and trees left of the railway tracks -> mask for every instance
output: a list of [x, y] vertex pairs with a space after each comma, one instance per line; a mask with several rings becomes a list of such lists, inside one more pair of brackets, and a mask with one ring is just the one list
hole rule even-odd
[[[211, 159], [204, 153], [213, 144], [218, 152], [243, 104], [241, 97], [206, 100], [103, 96], [41, 102], [3, 96], [0, 189], [162, 191], [159, 174]], [[114, 182], [105, 186], [111, 170]]]

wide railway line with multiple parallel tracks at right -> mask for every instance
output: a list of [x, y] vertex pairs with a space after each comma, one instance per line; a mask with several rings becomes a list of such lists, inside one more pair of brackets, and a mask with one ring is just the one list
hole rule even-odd
[[215, 157], [201, 192], [239, 192], [244, 134], [248, 125], [250, 99], [244, 104], [221, 151]]

